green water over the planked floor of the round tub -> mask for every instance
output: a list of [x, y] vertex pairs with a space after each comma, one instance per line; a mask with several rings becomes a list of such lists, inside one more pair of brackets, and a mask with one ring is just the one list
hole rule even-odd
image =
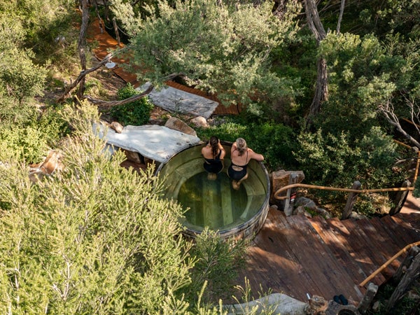
[[246, 209], [248, 196], [244, 183], [239, 190], [234, 190], [225, 172], [218, 174], [216, 181], [210, 181], [207, 172], [202, 172], [183, 183], [178, 201], [184, 208], [190, 208], [185, 214], [190, 224], [223, 230], [239, 220]]

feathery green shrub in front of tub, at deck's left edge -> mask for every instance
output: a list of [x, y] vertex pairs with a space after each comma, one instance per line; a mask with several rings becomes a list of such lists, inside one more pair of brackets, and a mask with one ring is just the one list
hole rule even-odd
[[196, 259], [187, 288], [188, 295], [193, 295], [190, 298], [197, 298], [194, 295], [204, 283], [208, 288], [201, 297], [204, 304], [216, 304], [219, 298], [230, 297], [237, 271], [245, 264], [246, 245], [244, 240], [224, 241], [216, 231], [203, 230], [190, 250], [190, 255]]

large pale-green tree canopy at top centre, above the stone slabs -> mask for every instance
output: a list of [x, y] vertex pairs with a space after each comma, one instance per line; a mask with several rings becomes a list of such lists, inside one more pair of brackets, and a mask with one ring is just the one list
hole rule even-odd
[[144, 21], [127, 16], [125, 25], [136, 34], [132, 63], [150, 70], [137, 73], [139, 78], [158, 86], [172, 73], [184, 73], [188, 85], [217, 93], [223, 104], [293, 97], [294, 80], [271, 71], [269, 53], [295, 34], [296, 8], [279, 19], [269, 2], [236, 4], [158, 1]]

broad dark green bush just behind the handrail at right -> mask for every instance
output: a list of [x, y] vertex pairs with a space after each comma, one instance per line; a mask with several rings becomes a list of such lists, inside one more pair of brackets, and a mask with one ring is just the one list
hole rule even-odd
[[[300, 148], [294, 153], [295, 158], [305, 179], [314, 185], [350, 188], [354, 181], [360, 181], [365, 189], [385, 188], [398, 185], [403, 179], [404, 174], [392, 169], [398, 157], [396, 144], [378, 127], [372, 127], [369, 134], [355, 141], [344, 132], [336, 137], [321, 129], [314, 134], [301, 132], [297, 139]], [[315, 193], [325, 198], [345, 198], [339, 193]]]

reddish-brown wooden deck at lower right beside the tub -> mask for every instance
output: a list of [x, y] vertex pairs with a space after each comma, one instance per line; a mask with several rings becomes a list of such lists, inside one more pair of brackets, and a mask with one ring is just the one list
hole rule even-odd
[[[271, 208], [253, 239], [238, 281], [244, 286], [246, 277], [255, 298], [260, 293], [283, 293], [306, 302], [307, 293], [325, 300], [343, 294], [357, 306], [365, 293], [358, 284], [415, 241], [420, 241], [420, 211], [339, 221], [321, 216], [286, 217], [283, 211]], [[405, 255], [372, 282], [381, 285], [389, 279]]]

